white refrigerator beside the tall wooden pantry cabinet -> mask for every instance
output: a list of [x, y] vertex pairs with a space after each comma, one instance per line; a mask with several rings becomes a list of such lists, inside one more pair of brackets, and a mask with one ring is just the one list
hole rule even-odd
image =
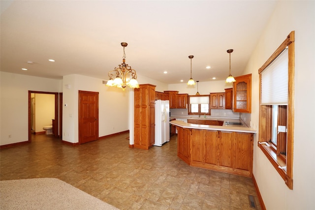
[[154, 146], [161, 147], [169, 142], [169, 101], [156, 100], [155, 116], [155, 143]]

